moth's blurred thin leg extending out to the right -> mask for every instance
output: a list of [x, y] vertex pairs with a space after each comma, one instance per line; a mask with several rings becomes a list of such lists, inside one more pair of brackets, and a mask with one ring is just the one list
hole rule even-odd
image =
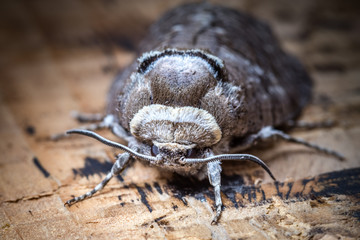
[[338, 153], [336, 151], [321, 147], [321, 146], [316, 145], [314, 143], [307, 142], [307, 141], [305, 141], [305, 140], [303, 140], [301, 138], [292, 137], [292, 136], [284, 133], [283, 131], [274, 129], [272, 127], [264, 127], [263, 129], [260, 130], [258, 135], [262, 140], [271, 138], [273, 136], [277, 136], [277, 137], [280, 137], [280, 138], [282, 138], [282, 139], [284, 139], [284, 140], [286, 140], [288, 142], [301, 144], [301, 145], [304, 145], [306, 147], [315, 149], [316, 151], [323, 152], [323, 153], [328, 154], [328, 155], [332, 155], [332, 156], [334, 156], [334, 157], [336, 157], [336, 158], [338, 158], [340, 160], [343, 160], [345, 158], [341, 153]]

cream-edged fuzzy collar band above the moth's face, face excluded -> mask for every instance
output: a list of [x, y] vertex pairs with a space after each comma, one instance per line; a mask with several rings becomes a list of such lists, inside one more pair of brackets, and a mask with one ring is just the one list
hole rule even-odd
[[160, 104], [140, 109], [130, 122], [133, 136], [149, 144], [177, 143], [199, 148], [210, 147], [221, 139], [215, 118], [195, 107], [171, 107]]

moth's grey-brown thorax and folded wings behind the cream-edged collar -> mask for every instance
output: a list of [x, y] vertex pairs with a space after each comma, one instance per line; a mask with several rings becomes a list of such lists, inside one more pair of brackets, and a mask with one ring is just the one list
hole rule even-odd
[[[139, 54], [168, 48], [201, 49], [221, 59], [224, 77], [214, 75], [210, 61], [186, 56], [159, 59], [145, 72], [134, 62], [118, 75], [108, 96], [108, 112], [127, 131], [144, 106], [194, 106], [214, 116], [227, 141], [294, 119], [311, 96], [303, 66], [281, 50], [266, 24], [244, 13], [207, 3], [175, 8], [152, 25]], [[140, 63], [147, 58], [143, 55]], [[178, 74], [185, 63], [183, 76], [194, 74], [192, 81]]]

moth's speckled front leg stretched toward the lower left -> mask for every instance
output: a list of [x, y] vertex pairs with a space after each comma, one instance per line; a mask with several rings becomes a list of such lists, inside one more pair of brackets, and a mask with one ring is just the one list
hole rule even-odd
[[113, 176], [120, 174], [124, 170], [124, 166], [129, 161], [129, 159], [130, 159], [129, 153], [119, 154], [117, 156], [116, 162], [114, 163], [114, 165], [111, 168], [111, 171], [106, 175], [106, 177], [101, 181], [101, 183], [99, 183], [93, 190], [91, 190], [79, 197], [75, 197], [73, 199], [66, 201], [64, 203], [64, 205], [71, 206], [72, 204], [80, 202], [80, 201], [84, 200], [85, 198], [90, 198], [96, 192], [103, 189]]

